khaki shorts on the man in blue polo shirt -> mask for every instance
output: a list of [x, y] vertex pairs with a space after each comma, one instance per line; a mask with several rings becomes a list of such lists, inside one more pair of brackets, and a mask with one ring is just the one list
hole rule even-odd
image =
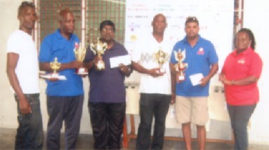
[[205, 126], [208, 122], [208, 97], [184, 97], [175, 98], [175, 116], [178, 123], [194, 123]]

